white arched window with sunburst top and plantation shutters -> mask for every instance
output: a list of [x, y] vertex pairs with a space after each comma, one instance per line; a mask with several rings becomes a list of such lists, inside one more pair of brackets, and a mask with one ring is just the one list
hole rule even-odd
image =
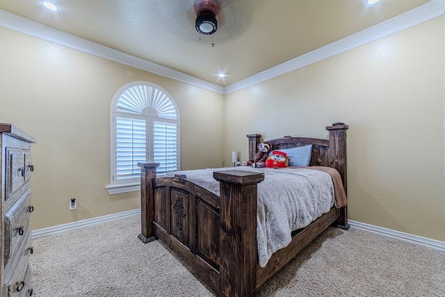
[[[111, 103], [109, 193], [138, 190], [139, 162], [158, 162], [158, 174], [179, 170], [179, 114], [175, 101], [152, 83], [129, 83]], [[136, 187], [137, 186], [137, 187]], [[122, 188], [112, 190], [110, 188]]]

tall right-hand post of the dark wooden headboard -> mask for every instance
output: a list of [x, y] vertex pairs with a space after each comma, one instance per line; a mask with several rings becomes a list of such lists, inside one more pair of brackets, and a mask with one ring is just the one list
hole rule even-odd
[[[346, 130], [348, 130], [348, 128], [348, 125], [326, 127], [326, 130], [329, 131], [328, 161], [332, 168], [340, 172], [346, 194], [348, 194], [348, 179], [346, 174]], [[339, 211], [340, 217], [336, 221], [337, 227], [348, 230], [348, 207], [341, 207]]]

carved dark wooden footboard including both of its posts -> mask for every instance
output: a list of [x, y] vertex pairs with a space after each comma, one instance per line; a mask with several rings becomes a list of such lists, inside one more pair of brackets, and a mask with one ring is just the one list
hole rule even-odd
[[214, 172], [220, 197], [184, 177], [155, 179], [157, 163], [140, 163], [141, 234], [161, 239], [220, 296], [251, 296], [257, 287], [257, 184], [264, 174]]

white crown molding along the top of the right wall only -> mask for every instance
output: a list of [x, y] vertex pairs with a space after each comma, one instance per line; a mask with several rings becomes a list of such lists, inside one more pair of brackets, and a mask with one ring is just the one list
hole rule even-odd
[[353, 35], [349, 35], [346, 38], [332, 42], [329, 45], [310, 51], [307, 54], [293, 58], [287, 62], [284, 62], [275, 67], [271, 67], [268, 70], [259, 72], [236, 83], [232, 83], [225, 87], [225, 94], [235, 92], [236, 90], [241, 90], [248, 86], [252, 86], [255, 83], [261, 81], [266, 81], [273, 77], [277, 77], [281, 74], [297, 70], [298, 68], [305, 67], [309, 64], [316, 63], [325, 58], [341, 54], [344, 51], [354, 49], [366, 43], [378, 40], [379, 38], [403, 31], [412, 26], [416, 26], [423, 22], [434, 19], [444, 15], [445, 11], [445, 0], [430, 0], [421, 6], [413, 8], [412, 10], [387, 19], [385, 22], [381, 22], [374, 26], [369, 27], [359, 31]]

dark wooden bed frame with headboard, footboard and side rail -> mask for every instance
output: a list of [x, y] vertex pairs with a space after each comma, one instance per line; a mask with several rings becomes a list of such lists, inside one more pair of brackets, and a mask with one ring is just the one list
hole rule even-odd
[[[329, 140], [284, 136], [273, 149], [312, 144], [310, 166], [336, 168], [346, 187], [347, 125], [326, 127]], [[253, 159], [260, 134], [248, 135]], [[264, 175], [243, 170], [213, 172], [220, 196], [184, 176], [156, 178], [159, 163], [141, 168], [141, 234], [147, 243], [161, 239], [219, 296], [254, 296], [255, 290], [330, 225], [348, 229], [347, 209], [333, 207], [311, 225], [293, 232], [286, 248], [261, 267], [257, 259], [257, 184]]]

